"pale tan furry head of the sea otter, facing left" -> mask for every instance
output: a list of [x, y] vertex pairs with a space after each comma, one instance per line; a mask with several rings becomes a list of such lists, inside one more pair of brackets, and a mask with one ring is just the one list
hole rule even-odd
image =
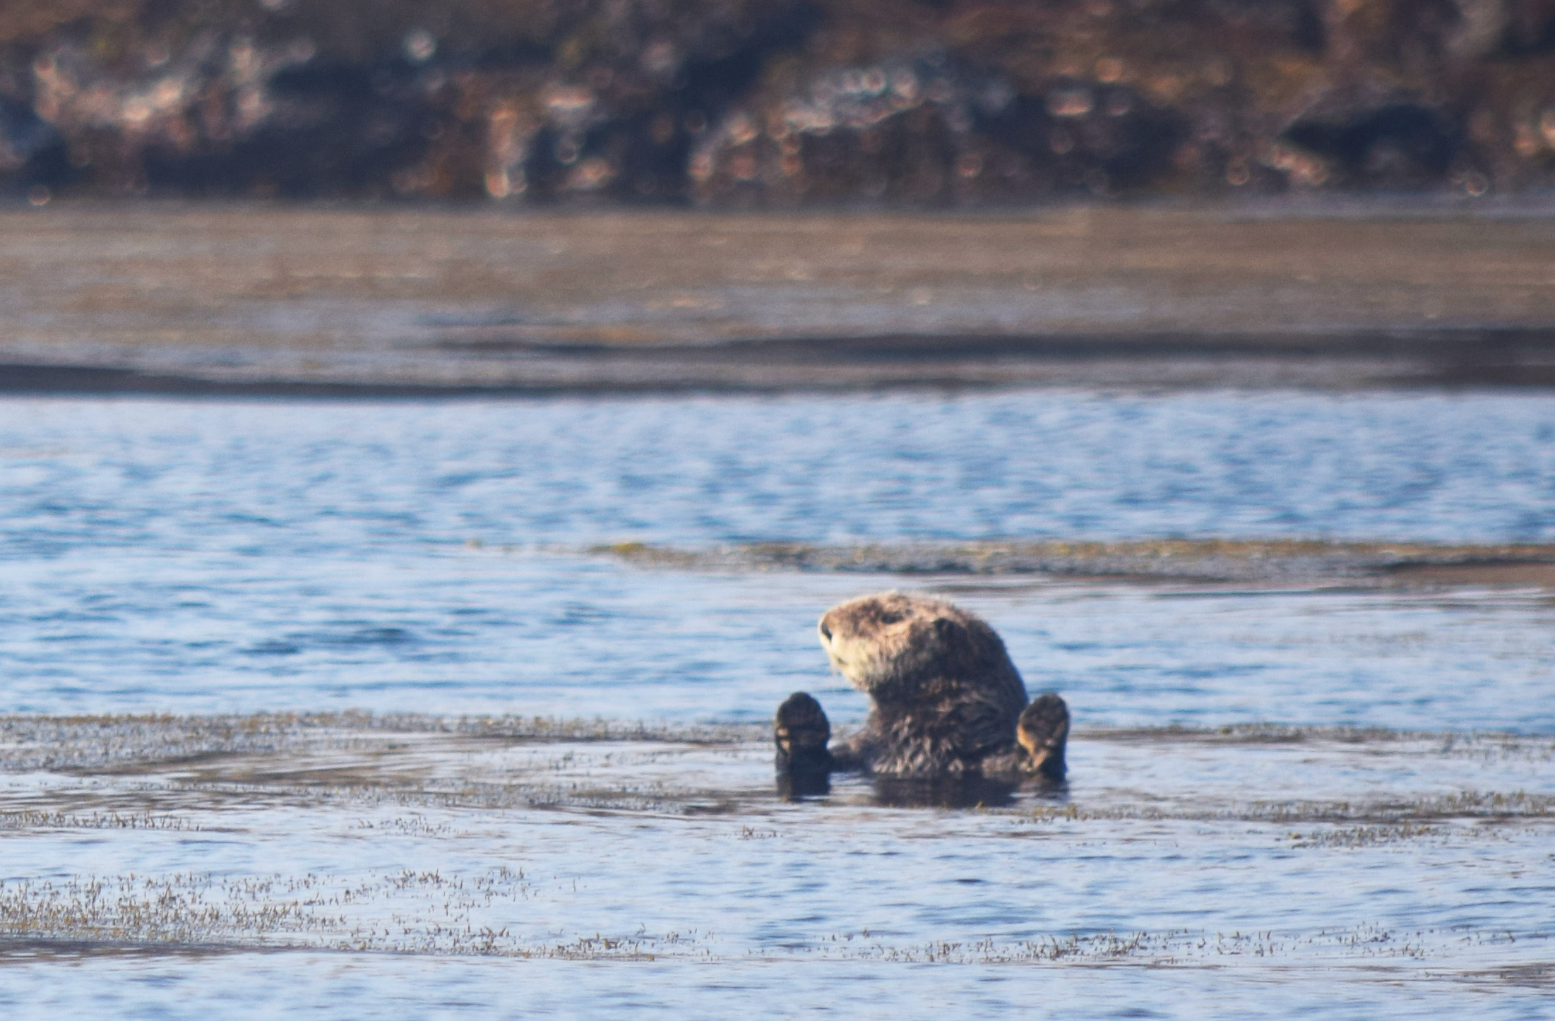
[[837, 671], [877, 702], [916, 698], [922, 684], [973, 671], [992, 648], [1000, 659], [1005, 650], [977, 617], [900, 592], [833, 606], [816, 629]]

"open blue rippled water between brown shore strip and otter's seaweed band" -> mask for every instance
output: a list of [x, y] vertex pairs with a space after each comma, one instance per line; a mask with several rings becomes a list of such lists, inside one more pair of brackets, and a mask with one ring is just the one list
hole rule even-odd
[[[540, 547], [1550, 539], [1552, 437], [1539, 396], [8, 399], [0, 709], [762, 720], [787, 688], [838, 687], [818, 611], [900, 580]], [[959, 598], [1034, 685], [1095, 690], [1096, 723], [1555, 723], [1522, 698], [1541, 595]]]

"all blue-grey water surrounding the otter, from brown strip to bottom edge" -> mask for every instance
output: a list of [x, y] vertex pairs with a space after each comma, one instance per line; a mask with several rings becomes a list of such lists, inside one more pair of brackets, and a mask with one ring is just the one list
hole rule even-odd
[[[0, 713], [171, 715], [0, 741], [0, 1005], [1543, 1016], [1546, 589], [589, 552], [1043, 536], [1555, 541], [1555, 401], [0, 399]], [[1064, 692], [1067, 793], [903, 808], [840, 780], [785, 803], [759, 737], [676, 737], [796, 688], [861, 720], [813, 622], [903, 584]], [[154, 747], [190, 716], [334, 710], [669, 730], [255, 744], [255, 723]], [[1298, 740], [1214, 737], [1239, 724]]]

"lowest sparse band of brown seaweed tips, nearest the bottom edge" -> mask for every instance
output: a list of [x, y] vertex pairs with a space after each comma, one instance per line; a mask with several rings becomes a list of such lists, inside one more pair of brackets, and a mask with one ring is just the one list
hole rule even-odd
[[[728, 948], [695, 929], [596, 932], [535, 940], [482, 925], [493, 903], [546, 895], [522, 869], [484, 873], [404, 869], [367, 876], [320, 873], [218, 878], [73, 876], [0, 883], [0, 957], [70, 954], [341, 953], [541, 957], [563, 960], [722, 960]], [[935, 940], [893, 943], [869, 929], [818, 934], [750, 948], [743, 960], [858, 960], [905, 964], [1208, 964], [1225, 957], [1401, 959], [1448, 943], [1513, 942], [1522, 934], [1454, 928], [1400, 932], [1384, 925], [1319, 931], [1048, 934], [1019, 943]], [[1499, 977], [1499, 976], [1497, 976]]]

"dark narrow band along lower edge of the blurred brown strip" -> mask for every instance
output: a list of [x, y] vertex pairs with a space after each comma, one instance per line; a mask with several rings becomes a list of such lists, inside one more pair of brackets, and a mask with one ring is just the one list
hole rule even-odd
[[[0, 395], [168, 395], [299, 399], [543, 398], [877, 390], [1549, 390], [1555, 329], [1375, 331], [1340, 336], [1056, 334], [785, 337], [681, 345], [448, 345], [521, 365], [488, 373], [146, 370], [101, 362], [0, 362]], [[182, 368], [182, 370], [180, 370]], [[373, 378], [378, 376], [378, 378]], [[487, 378], [480, 378], [487, 376]]]

